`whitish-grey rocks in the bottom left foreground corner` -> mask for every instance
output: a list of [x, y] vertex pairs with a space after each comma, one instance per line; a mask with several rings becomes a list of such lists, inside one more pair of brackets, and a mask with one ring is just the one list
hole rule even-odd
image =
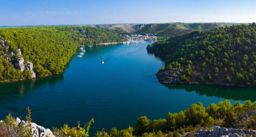
[[[27, 125], [28, 121], [21, 121], [19, 118], [16, 118], [15, 123], [17, 125]], [[33, 133], [32, 137], [55, 137], [55, 135], [52, 134], [52, 131], [49, 128], [45, 129], [43, 126], [37, 125], [36, 123], [31, 123], [30, 128]]]

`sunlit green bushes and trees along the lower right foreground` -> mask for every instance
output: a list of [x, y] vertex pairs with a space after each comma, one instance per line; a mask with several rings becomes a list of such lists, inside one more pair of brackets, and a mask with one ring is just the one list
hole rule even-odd
[[205, 108], [202, 103], [192, 104], [187, 110], [179, 113], [168, 113], [166, 119], [149, 120], [146, 116], [137, 119], [135, 128], [109, 132], [98, 131], [96, 137], [180, 137], [183, 133], [192, 133], [201, 128], [218, 125], [226, 128], [256, 130], [256, 102], [244, 104], [229, 100], [210, 104]]

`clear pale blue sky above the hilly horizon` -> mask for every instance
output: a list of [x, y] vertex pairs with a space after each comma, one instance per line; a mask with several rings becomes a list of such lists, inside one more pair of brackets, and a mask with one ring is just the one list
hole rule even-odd
[[256, 0], [1, 0], [0, 26], [256, 22]]

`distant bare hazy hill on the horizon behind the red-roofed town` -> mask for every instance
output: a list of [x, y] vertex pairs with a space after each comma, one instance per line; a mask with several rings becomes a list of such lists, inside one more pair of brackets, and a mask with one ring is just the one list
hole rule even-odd
[[191, 33], [194, 30], [239, 25], [241, 23], [152, 23], [152, 24], [100, 24], [89, 25], [96, 28], [124, 30], [130, 33], [152, 33], [157, 36], [175, 37]]

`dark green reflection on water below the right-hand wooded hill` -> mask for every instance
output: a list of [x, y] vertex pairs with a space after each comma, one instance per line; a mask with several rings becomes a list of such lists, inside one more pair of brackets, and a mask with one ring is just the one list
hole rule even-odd
[[163, 84], [168, 89], [185, 89], [187, 92], [195, 91], [199, 95], [218, 97], [232, 100], [251, 100], [256, 101], [256, 88], [235, 88], [225, 86], [208, 85], [187, 85], [187, 84]]

